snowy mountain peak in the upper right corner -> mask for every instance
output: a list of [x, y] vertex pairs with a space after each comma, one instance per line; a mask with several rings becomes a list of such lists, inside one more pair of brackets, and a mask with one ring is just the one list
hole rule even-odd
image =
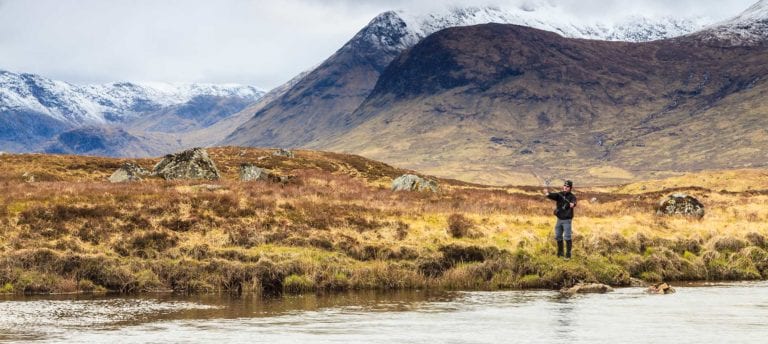
[[768, 44], [768, 0], [760, 0], [738, 16], [708, 26], [692, 36], [728, 45]]

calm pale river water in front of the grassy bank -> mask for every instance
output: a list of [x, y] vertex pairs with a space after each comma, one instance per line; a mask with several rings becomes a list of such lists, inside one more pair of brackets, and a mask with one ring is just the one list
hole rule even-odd
[[264, 300], [0, 297], [0, 341], [89, 343], [766, 343], [768, 283], [352, 293]]

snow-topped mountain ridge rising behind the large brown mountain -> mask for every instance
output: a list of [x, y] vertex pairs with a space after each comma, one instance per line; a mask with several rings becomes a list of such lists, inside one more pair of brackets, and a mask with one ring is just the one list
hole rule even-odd
[[[283, 96], [253, 113], [224, 144], [314, 147], [340, 126], [373, 90], [381, 72], [402, 51], [438, 30], [488, 22], [517, 23], [577, 38], [652, 40], [695, 31], [706, 19], [629, 18], [613, 25], [579, 23], [556, 8], [452, 8], [413, 15], [385, 12]], [[553, 19], [554, 18], [554, 19]]]

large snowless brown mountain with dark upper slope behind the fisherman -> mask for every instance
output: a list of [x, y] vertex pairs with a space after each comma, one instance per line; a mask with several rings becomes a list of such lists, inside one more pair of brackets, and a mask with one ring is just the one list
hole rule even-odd
[[315, 146], [487, 183], [764, 164], [765, 61], [765, 46], [695, 35], [626, 43], [451, 28], [393, 61], [344, 134]]

